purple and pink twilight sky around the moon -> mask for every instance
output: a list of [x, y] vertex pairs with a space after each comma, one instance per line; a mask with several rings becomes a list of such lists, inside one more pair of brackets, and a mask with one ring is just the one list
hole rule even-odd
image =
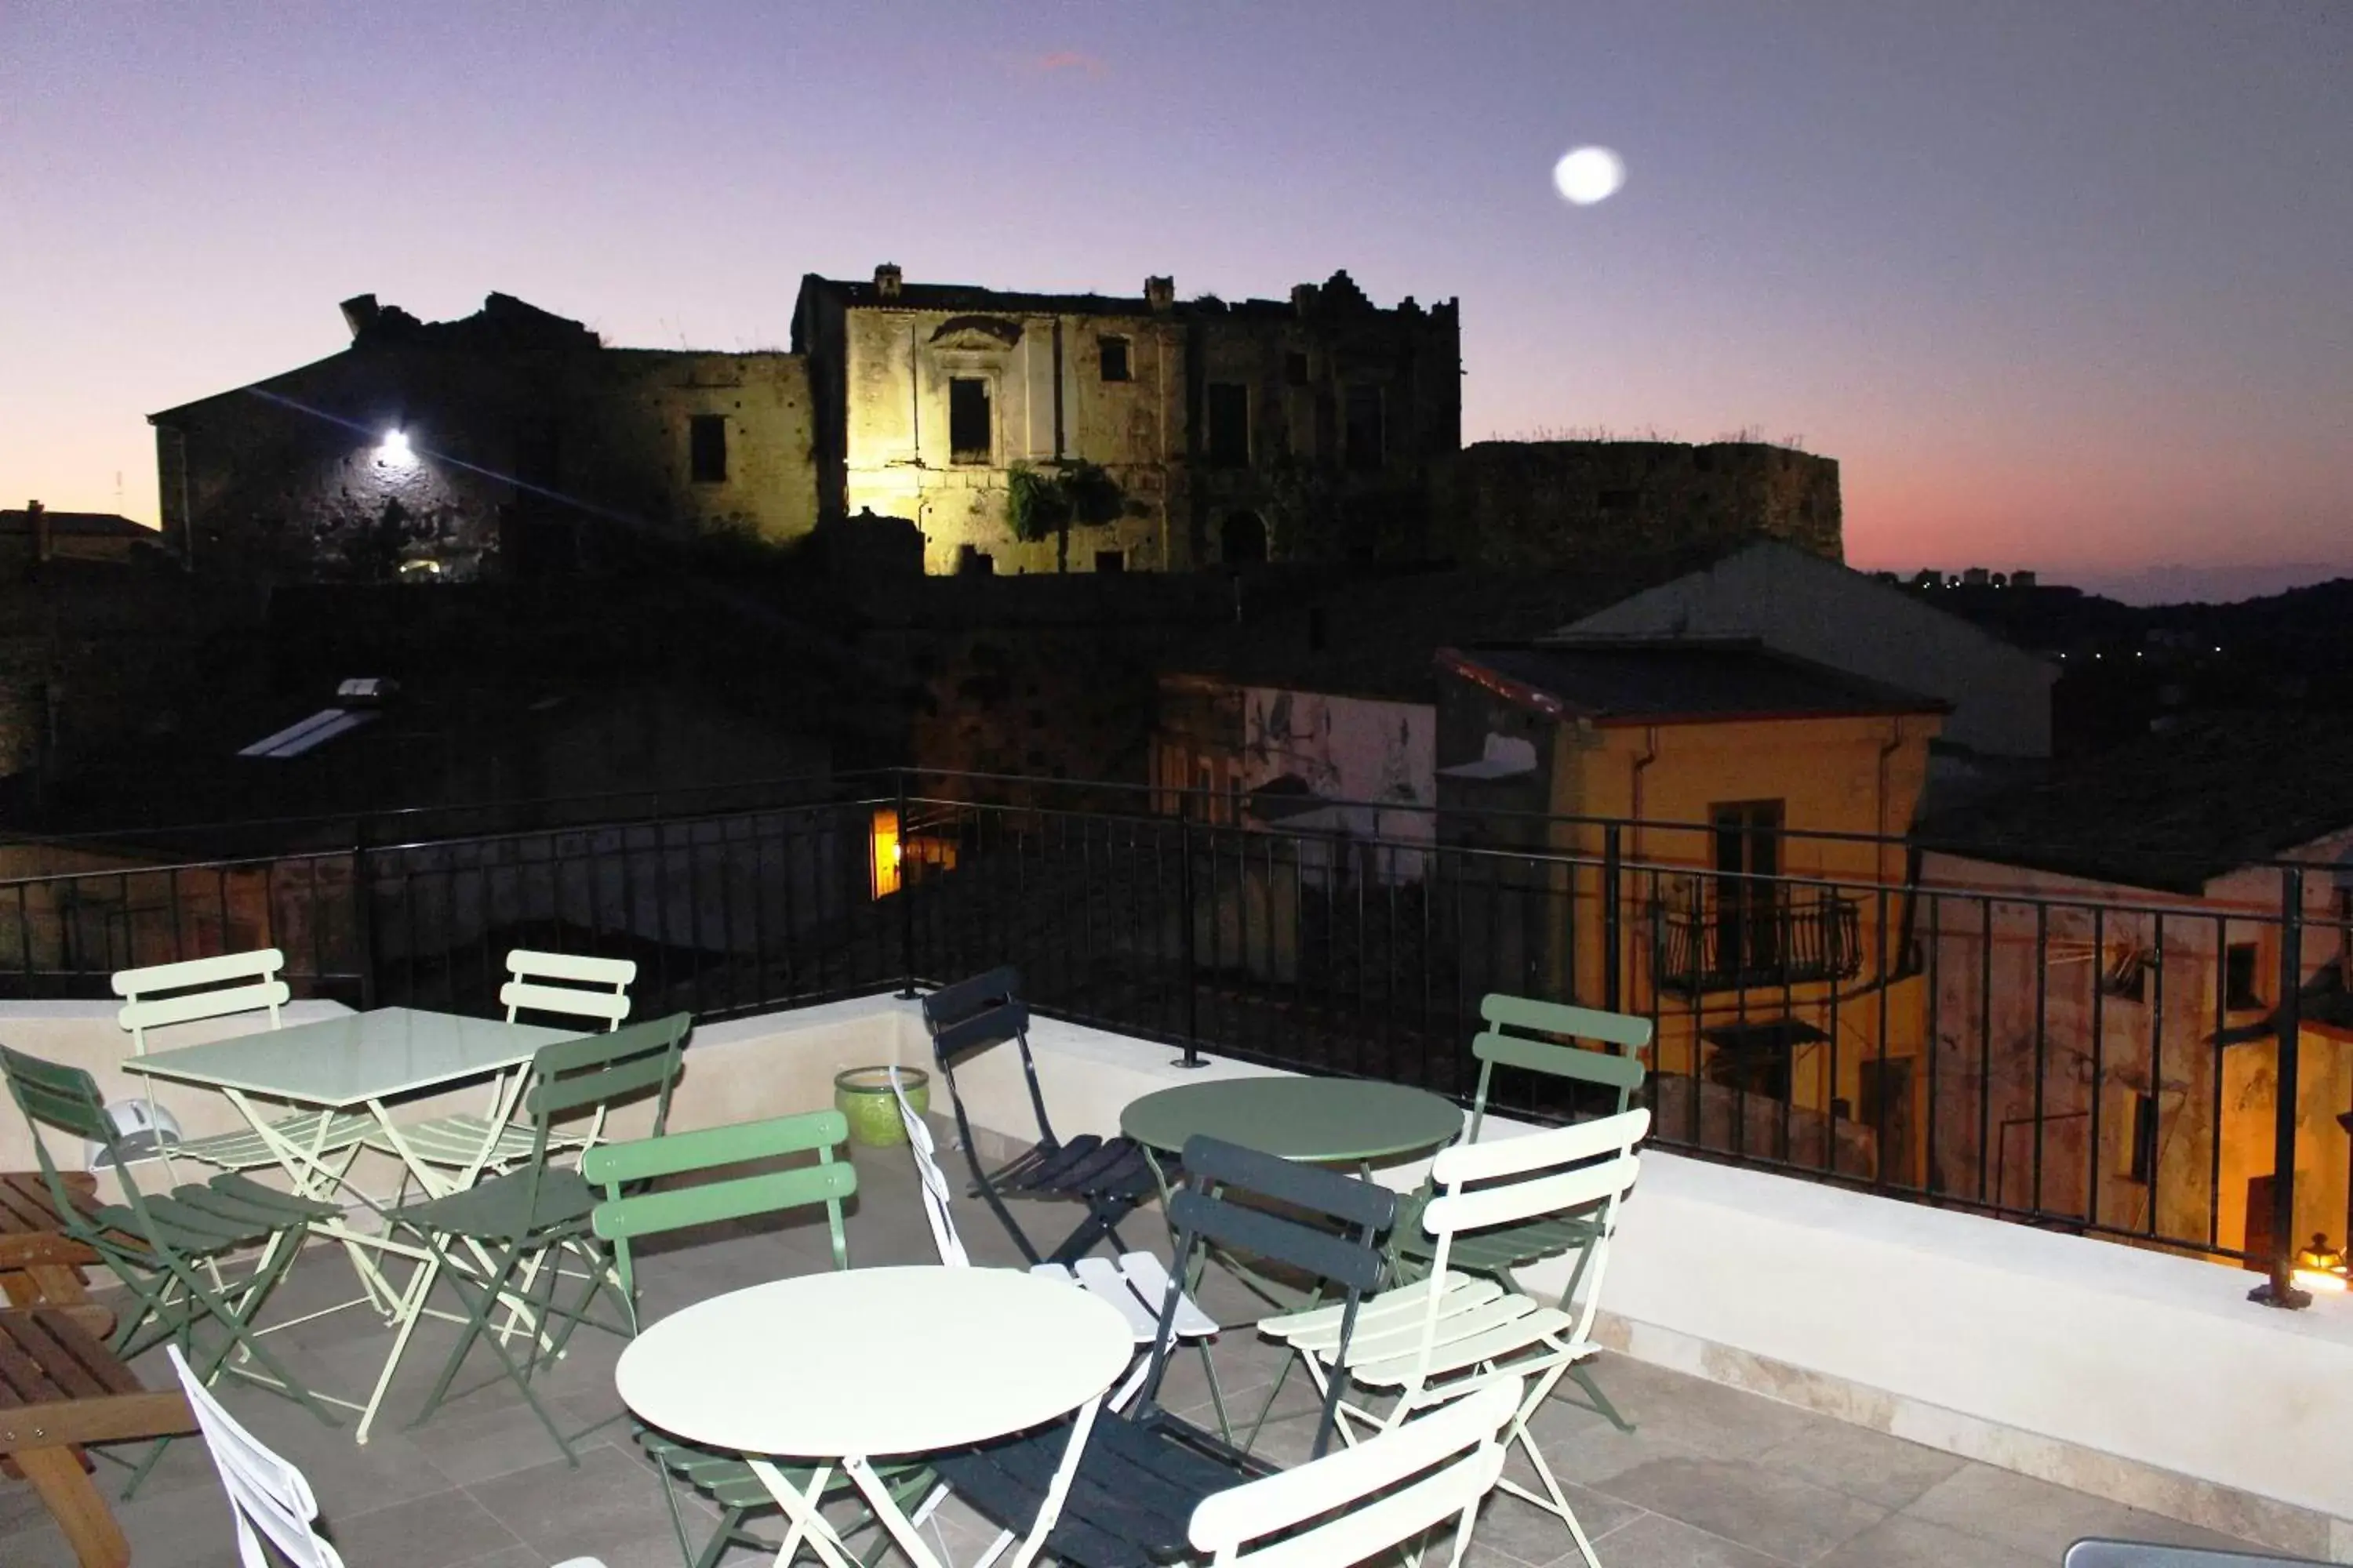
[[1461, 296], [1468, 440], [1793, 437], [1861, 567], [2353, 574], [2344, 0], [0, 0], [0, 235], [7, 505], [153, 522], [144, 414], [358, 292], [781, 348], [805, 270], [1346, 266]]

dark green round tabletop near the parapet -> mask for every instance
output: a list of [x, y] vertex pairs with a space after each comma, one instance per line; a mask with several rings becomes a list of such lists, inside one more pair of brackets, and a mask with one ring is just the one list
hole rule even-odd
[[1452, 1143], [1464, 1112], [1426, 1088], [1372, 1079], [1214, 1079], [1129, 1100], [1120, 1131], [1176, 1154], [1207, 1133], [1308, 1164], [1369, 1164]]

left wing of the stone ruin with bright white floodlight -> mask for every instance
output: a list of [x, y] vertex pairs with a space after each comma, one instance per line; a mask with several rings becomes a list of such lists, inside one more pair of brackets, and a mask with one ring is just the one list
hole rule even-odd
[[816, 522], [798, 355], [607, 348], [492, 294], [344, 303], [346, 350], [151, 414], [165, 536], [200, 574], [466, 581], [628, 534]]

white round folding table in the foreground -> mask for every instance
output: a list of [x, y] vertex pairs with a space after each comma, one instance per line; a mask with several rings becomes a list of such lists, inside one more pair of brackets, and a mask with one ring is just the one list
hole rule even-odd
[[1132, 1356], [1127, 1321], [1087, 1291], [1021, 1269], [927, 1265], [800, 1274], [696, 1302], [640, 1333], [614, 1385], [649, 1427], [751, 1458], [824, 1556], [838, 1561], [840, 1544], [816, 1519], [824, 1469], [802, 1495], [769, 1455], [838, 1460], [899, 1547], [929, 1563], [868, 1460], [1080, 1410], [1056, 1476], [1066, 1488], [1094, 1408]]

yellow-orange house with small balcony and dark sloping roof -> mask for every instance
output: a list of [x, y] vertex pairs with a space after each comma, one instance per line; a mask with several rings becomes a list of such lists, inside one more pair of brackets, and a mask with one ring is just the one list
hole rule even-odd
[[[1657, 1018], [1661, 1126], [1918, 1182], [1901, 835], [1946, 705], [1755, 642], [1442, 649], [1452, 844], [1546, 851], [1546, 994]], [[1527, 813], [1527, 816], [1511, 816]], [[1499, 933], [1501, 936], [1501, 933]]]

